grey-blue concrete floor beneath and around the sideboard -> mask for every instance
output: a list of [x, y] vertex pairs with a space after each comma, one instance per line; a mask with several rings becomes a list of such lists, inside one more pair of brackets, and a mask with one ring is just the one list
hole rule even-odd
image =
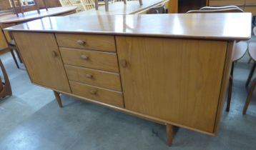
[[232, 104], [229, 113], [222, 113], [218, 136], [177, 128], [169, 147], [165, 126], [69, 96], [62, 96], [64, 108], [59, 109], [52, 91], [32, 85], [11, 54], [1, 59], [13, 96], [0, 100], [0, 150], [256, 149], [256, 101], [242, 115], [251, 64], [235, 64]]

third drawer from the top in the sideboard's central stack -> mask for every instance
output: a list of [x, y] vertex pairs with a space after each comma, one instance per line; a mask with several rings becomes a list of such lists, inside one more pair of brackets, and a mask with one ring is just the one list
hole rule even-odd
[[65, 65], [65, 69], [69, 80], [122, 91], [119, 74], [70, 65]]

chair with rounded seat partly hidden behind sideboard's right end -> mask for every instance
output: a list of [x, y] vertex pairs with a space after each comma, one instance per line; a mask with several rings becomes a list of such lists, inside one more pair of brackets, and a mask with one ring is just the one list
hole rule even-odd
[[[202, 7], [200, 10], [192, 10], [192, 11], [188, 11], [187, 13], [228, 13], [228, 12], [238, 13], [238, 12], [244, 12], [244, 11], [237, 6], [220, 6], [220, 7], [205, 6], [205, 7]], [[227, 95], [226, 111], [230, 111], [232, 86], [233, 86], [233, 71], [234, 71], [235, 61], [238, 61], [239, 59], [242, 58], [242, 56], [245, 55], [247, 48], [248, 46], [246, 41], [240, 41], [235, 44], [234, 54], [232, 57], [232, 68], [230, 72], [230, 83], [228, 88], [229, 90]]]

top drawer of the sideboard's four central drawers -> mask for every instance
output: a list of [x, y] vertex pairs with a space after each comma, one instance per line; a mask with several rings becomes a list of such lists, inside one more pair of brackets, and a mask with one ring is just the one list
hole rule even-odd
[[116, 51], [114, 36], [90, 34], [56, 34], [60, 47]]

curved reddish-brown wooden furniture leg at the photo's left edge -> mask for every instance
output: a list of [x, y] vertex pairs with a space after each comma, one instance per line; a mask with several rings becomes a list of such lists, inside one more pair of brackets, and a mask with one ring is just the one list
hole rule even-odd
[[0, 98], [4, 98], [6, 96], [11, 96], [11, 84], [8, 78], [8, 75], [6, 73], [6, 70], [4, 68], [4, 64], [0, 59], [0, 68], [3, 75], [3, 78], [0, 76]]

